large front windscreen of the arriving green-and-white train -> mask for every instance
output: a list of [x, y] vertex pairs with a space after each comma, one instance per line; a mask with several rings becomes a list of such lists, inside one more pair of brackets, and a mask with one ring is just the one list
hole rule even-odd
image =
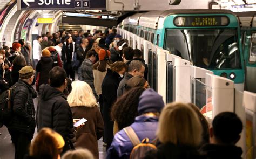
[[164, 49], [202, 68], [241, 68], [235, 29], [169, 29]]

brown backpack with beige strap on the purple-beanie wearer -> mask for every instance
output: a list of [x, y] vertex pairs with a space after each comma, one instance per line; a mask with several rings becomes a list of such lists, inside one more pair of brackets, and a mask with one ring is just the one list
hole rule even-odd
[[124, 128], [124, 131], [134, 146], [130, 154], [130, 159], [144, 158], [147, 151], [157, 149], [153, 143], [149, 143], [149, 138], [147, 137], [140, 142], [139, 137], [136, 135], [131, 126]]

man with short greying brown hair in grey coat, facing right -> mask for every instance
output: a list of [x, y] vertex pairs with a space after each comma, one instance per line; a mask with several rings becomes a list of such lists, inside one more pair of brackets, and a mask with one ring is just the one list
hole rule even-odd
[[143, 77], [145, 71], [144, 64], [139, 60], [133, 60], [129, 64], [128, 71], [125, 73], [124, 78], [120, 82], [117, 89], [117, 97], [122, 96], [125, 92], [126, 82], [133, 76], [140, 75]]

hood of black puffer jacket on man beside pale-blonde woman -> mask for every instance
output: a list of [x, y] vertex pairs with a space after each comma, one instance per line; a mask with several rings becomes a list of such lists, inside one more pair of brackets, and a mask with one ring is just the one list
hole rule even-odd
[[58, 89], [51, 87], [50, 85], [41, 85], [39, 87], [39, 98], [42, 100], [49, 100], [56, 96], [62, 96], [66, 99], [63, 92], [60, 92]]

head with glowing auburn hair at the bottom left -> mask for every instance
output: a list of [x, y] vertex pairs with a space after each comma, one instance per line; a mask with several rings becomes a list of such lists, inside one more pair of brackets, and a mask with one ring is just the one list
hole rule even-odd
[[30, 146], [29, 154], [35, 158], [57, 159], [65, 145], [63, 137], [50, 128], [42, 128]]

